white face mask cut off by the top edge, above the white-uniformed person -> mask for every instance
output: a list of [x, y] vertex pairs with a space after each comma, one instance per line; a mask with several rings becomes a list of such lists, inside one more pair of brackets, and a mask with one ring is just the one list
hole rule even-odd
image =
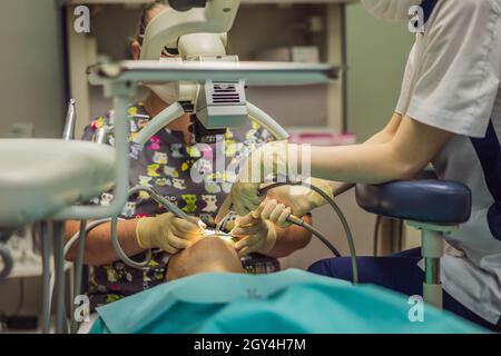
[[410, 9], [423, 0], [362, 0], [363, 7], [377, 19], [384, 21], [406, 21], [411, 18]]

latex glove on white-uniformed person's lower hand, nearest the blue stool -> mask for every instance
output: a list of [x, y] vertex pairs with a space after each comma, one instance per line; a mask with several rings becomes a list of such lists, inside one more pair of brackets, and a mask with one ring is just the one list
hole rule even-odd
[[[321, 188], [322, 191], [325, 192], [331, 199], [334, 199], [334, 191], [330, 181], [308, 178], [306, 179], [306, 182]], [[316, 191], [298, 186], [283, 186], [274, 188], [267, 192], [267, 197], [276, 199], [286, 207], [289, 207], [292, 214], [299, 218], [315, 208], [327, 204], [327, 201]]]

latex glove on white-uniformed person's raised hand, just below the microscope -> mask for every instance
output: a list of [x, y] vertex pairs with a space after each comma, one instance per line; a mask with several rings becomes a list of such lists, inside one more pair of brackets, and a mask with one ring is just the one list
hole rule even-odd
[[264, 200], [257, 192], [266, 179], [287, 177], [289, 158], [297, 160], [295, 154], [291, 155], [294, 151], [297, 152], [297, 145], [275, 141], [261, 146], [247, 157], [226, 199], [239, 216], [254, 211]]

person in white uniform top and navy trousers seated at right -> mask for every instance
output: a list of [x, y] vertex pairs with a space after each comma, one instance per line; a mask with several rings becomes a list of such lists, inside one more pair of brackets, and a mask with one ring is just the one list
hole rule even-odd
[[[425, 24], [416, 33], [401, 96], [386, 127], [362, 145], [313, 147], [312, 176], [382, 184], [412, 179], [432, 162], [440, 179], [466, 185], [472, 191], [471, 218], [445, 236], [450, 248], [442, 258], [444, 308], [501, 332], [501, 0], [362, 3], [391, 21], [407, 21], [409, 9], [421, 6]], [[289, 157], [299, 151], [294, 145], [286, 149]], [[254, 152], [250, 158], [256, 157]], [[230, 197], [239, 214], [257, 206], [258, 187], [245, 181], [234, 185]], [[323, 204], [312, 199], [313, 194], [297, 196], [281, 189], [275, 195], [298, 216]], [[419, 260], [419, 250], [360, 258], [360, 278], [420, 295]], [[345, 258], [316, 263], [311, 270], [351, 279]]]

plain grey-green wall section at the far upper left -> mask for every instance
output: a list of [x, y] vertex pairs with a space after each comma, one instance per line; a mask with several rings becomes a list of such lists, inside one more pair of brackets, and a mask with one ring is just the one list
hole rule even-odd
[[0, 137], [31, 122], [36, 137], [58, 137], [66, 111], [56, 0], [0, 1]]

